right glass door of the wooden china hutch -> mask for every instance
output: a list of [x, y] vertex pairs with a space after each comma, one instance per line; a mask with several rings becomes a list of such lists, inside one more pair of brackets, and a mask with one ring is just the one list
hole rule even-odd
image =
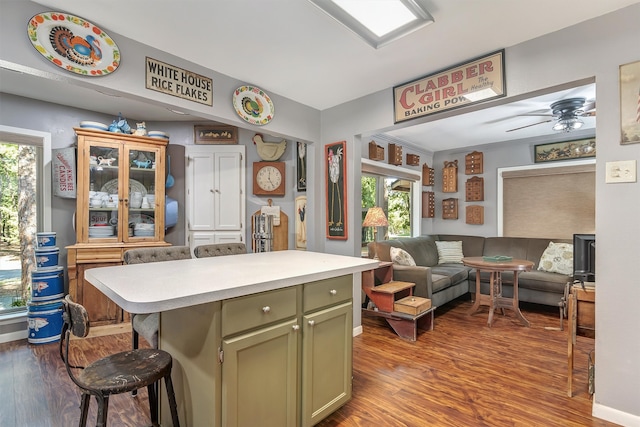
[[129, 159], [129, 185], [125, 188], [127, 197], [124, 204], [127, 219], [126, 227], [123, 227], [124, 241], [157, 240], [160, 224], [163, 223], [159, 206], [161, 202], [164, 203], [164, 200], [156, 199], [159, 182], [156, 160], [160, 157], [160, 149], [127, 146], [124, 154]]

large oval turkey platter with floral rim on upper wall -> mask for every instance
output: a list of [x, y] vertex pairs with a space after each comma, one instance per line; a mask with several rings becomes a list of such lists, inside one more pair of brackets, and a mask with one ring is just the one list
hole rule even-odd
[[63, 12], [34, 15], [27, 25], [38, 52], [60, 68], [83, 76], [104, 76], [120, 65], [120, 50], [100, 28]]

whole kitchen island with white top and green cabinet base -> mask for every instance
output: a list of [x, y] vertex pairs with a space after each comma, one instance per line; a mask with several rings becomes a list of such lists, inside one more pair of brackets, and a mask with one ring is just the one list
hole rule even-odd
[[128, 312], [161, 313], [159, 346], [174, 358], [183, 425], [308, 426], [351, 397], [354, 274], [377, 265], [278, 251], [85, 277]]

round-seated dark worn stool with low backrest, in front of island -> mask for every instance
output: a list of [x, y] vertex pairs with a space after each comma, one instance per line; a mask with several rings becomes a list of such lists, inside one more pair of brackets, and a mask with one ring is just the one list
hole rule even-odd
[[[169, 410], [174, 427], [180, 426], [176, 397], [171, 382], [173, 359], [166, 351], [158, 349], [136, 349], [123, 351], [96, 360], [86, 367], [73, 365], [69, 360], [70, 335], [85, 338], [89, 334], [87, 310], [71, 300], [69, 295], [62, 302], [63, 325], [60, 339], [60, 357], [64, 361], [71, 380], [82, 391], [80, 401], [80, 423], [85, 426], [89, 412], [89, 400], [95, 396], [98, 402], [96, 426], [107, 425], [109, 396], [147, 387], [151, 422], [158, 425], [158, 400], [154, 385], [164, 378], [169, 399]], [[75, 372], [79, 372], [76, 374]]]

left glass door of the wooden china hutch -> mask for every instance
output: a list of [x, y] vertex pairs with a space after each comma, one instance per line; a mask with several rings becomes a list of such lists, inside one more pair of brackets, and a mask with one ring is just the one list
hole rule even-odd
[[[88, 161], [82, 167], [89, 179], [86, 195], [87, 212], [85, 221], [89, 241], [118, 240], [118, 211], [120, 208], [121, 145], [118, 143], [92, 143], [89, 145]], [[84, 195], [83, 195], [84, 196]]]

